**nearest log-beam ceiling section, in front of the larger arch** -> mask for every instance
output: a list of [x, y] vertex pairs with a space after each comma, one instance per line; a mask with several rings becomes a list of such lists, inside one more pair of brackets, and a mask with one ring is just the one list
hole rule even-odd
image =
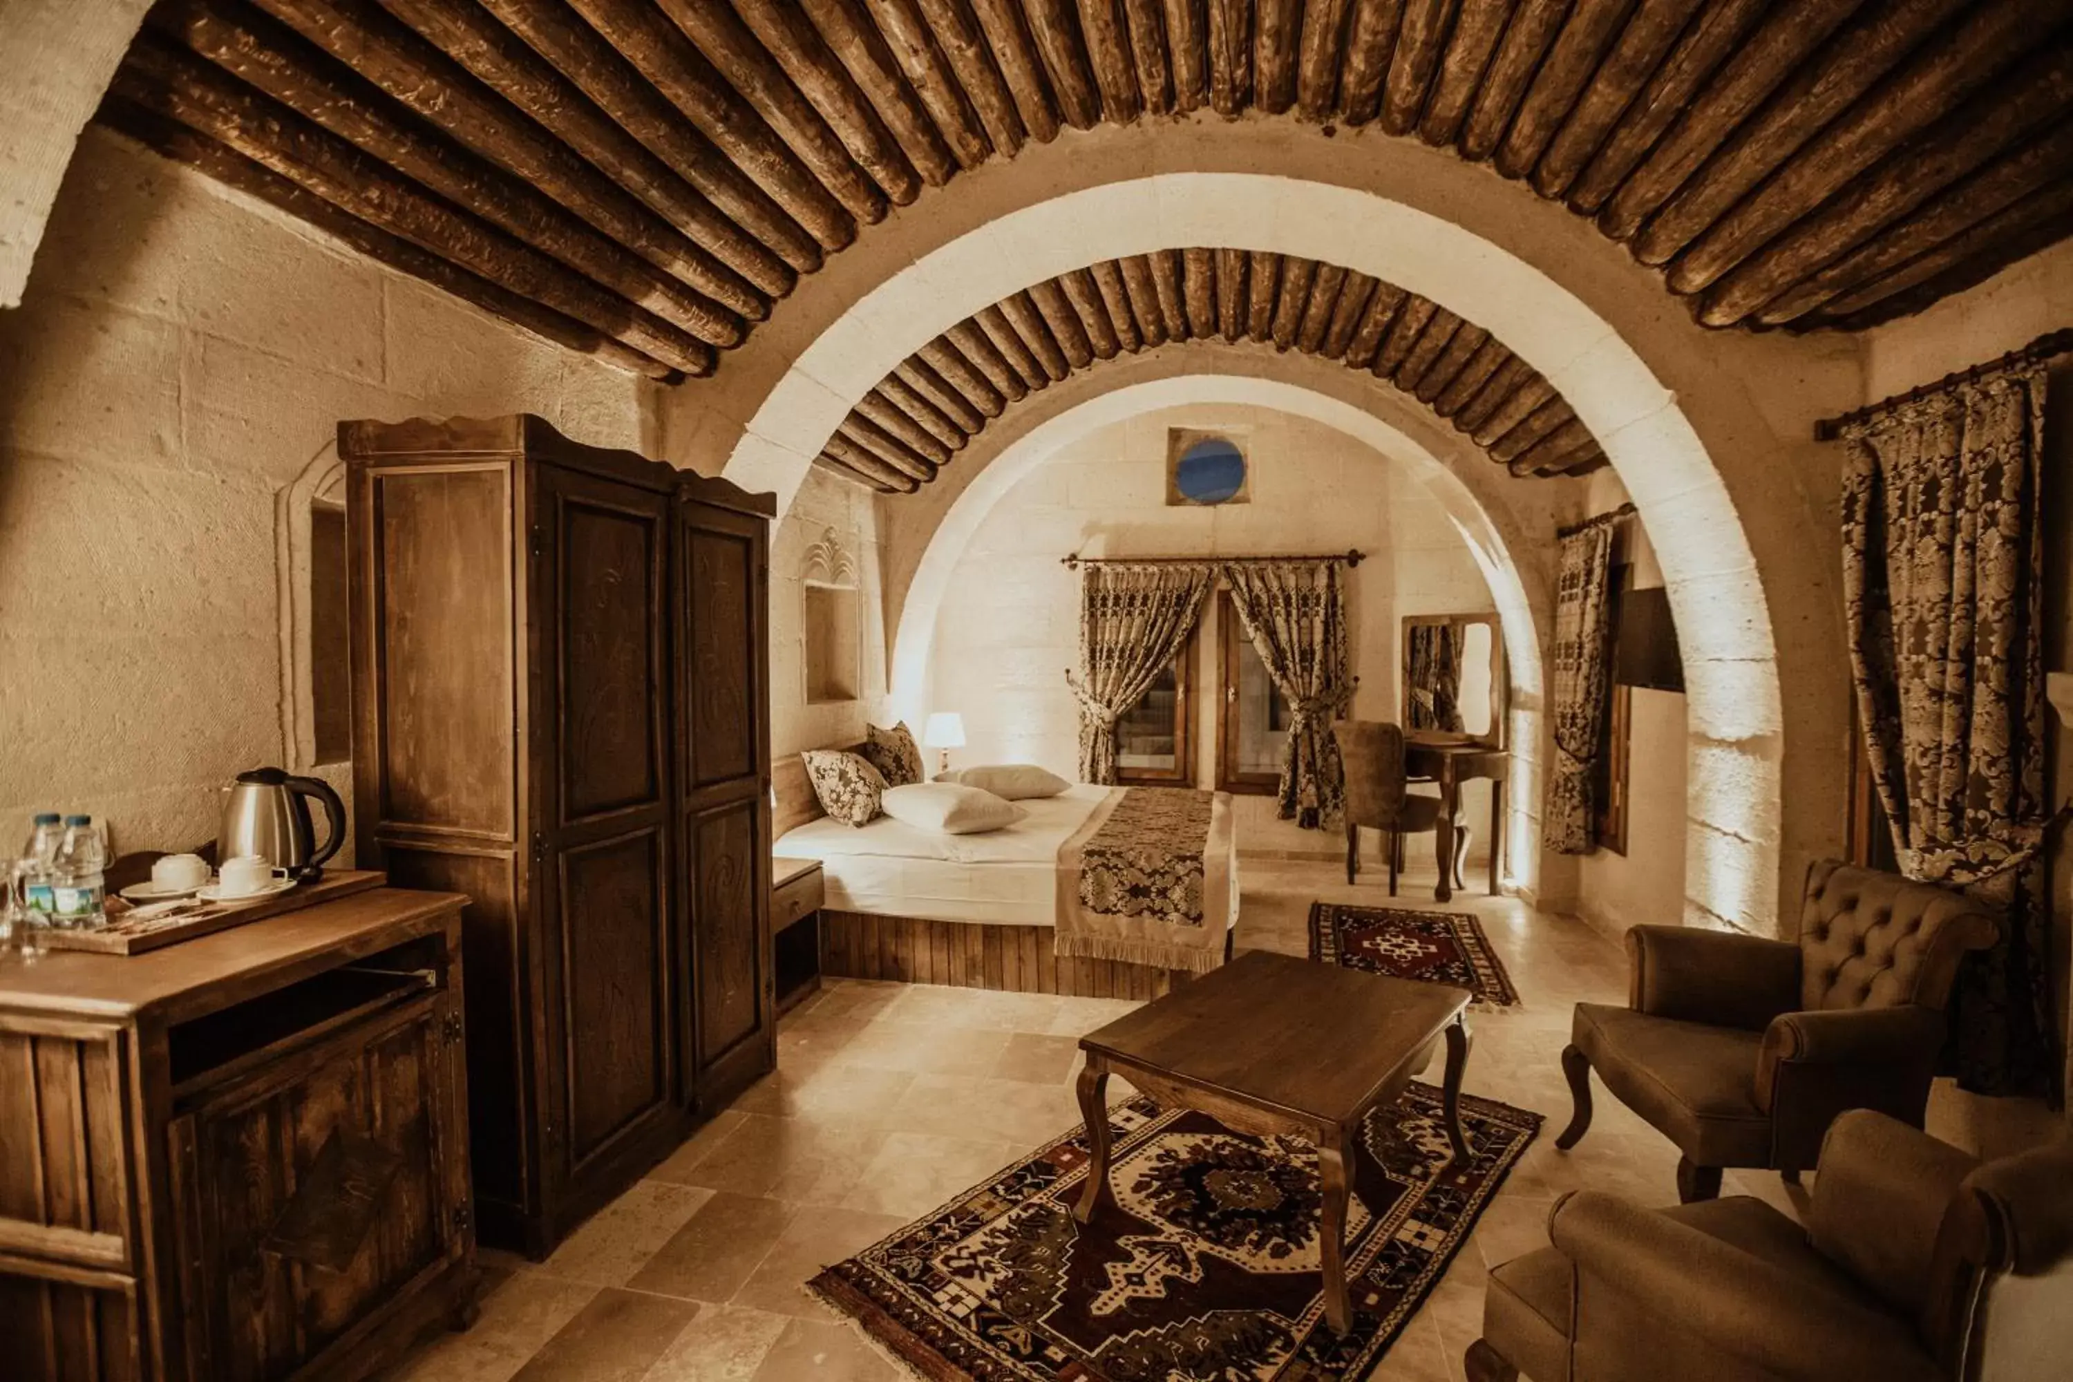
[[570, 346], [711, 373], [860, 224], [1066, 126], [1381, 126], [1706, 325], [2073, 232], [2073, 0], [162, 0], [102, 118]]

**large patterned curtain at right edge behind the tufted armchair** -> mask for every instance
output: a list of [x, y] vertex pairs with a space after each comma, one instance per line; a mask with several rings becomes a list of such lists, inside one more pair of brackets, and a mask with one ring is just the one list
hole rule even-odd
[[1845, 431], [1843, 597], [1866, 758], [1909, 879], [2003, 905], [1951, 995], [1953, 1073], [2052, 1084], [2042, 850], [2044, 371], [1959, 383]]

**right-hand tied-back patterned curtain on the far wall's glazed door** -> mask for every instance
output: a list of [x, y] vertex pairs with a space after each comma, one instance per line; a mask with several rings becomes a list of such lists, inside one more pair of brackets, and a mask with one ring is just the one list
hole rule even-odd
[[1354, 698], [1345, 655], [1345, 591], [1337, 562], [1231, 562], [1231, 605], [1289, 702], [1277, 814], [1306, 831], [1337, 823], [1345, 771], [1331, 721]]

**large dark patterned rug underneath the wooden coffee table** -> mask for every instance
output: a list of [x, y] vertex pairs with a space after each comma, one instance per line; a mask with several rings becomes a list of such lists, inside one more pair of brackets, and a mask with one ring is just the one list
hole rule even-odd
[[1144, 1096], [1109, 1111], [1113, 1202], [1086, 1229], [1074, 1129], [935, 1214], [813, 1278], [935, 1382], [1352, 1382], [1389, 1351], [1540, 1129], [1461, 1098], [1453, 1164], [1441, 1094], [1412, 1084], [1368, 1117], [1347, 1212], [1354, 1326], [1325, 1324], [1316, 1150], [1246, 1138]]

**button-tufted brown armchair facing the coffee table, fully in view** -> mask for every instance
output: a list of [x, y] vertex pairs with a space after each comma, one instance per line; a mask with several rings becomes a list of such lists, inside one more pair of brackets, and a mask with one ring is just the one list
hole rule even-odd
[[1555, 1146], [1590, 1127], [1590, 1071], [1683, 1152], [1687, 1204], [1723, 1167], [1797, 1179], [1845, 1109], [1920, 1127], [1959, 959], [1998, 928], [1969, 897], [1833, 860], [1808, 870], [1795, 943], [1636, 926], [1627, 1007], [1575, 1005]]

